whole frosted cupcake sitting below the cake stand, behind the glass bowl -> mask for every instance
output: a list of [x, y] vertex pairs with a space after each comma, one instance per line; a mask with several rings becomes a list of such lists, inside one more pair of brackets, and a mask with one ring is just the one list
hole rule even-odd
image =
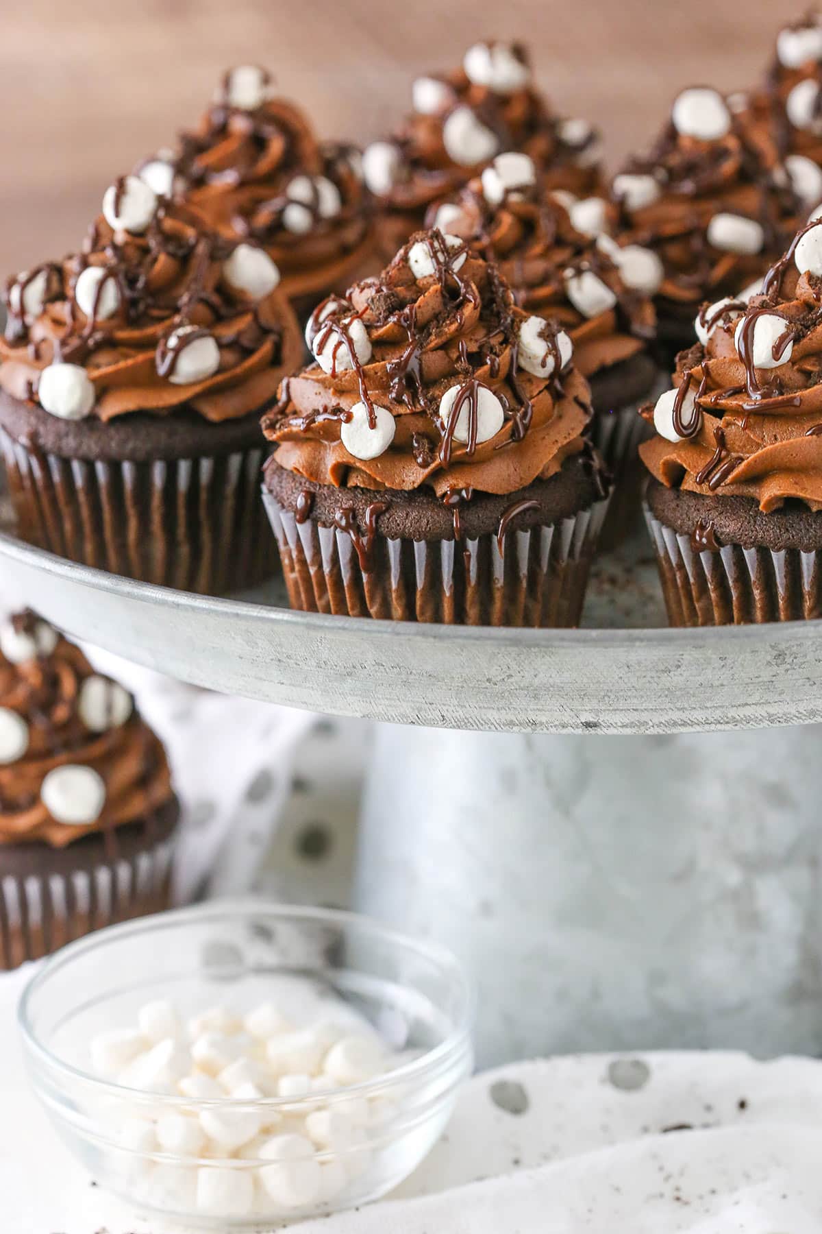
[[168, 907], [179, 807], [132, 696], [31, 612], [0, 624], [0, 966]]

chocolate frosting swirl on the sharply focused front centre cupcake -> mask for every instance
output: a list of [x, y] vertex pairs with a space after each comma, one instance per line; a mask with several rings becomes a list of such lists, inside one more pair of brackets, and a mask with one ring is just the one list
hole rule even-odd
[[[412, 269], [412, 249], [430, 254], [433, 273]], [[355, 368], [323, 371], [312, 364], [283, 383], [277, 411], [264, 421], [277, 443], [279, 466], [336, 487], [454, 490], [508, 494], [546, 479], [563, 460], [587, 449], [590, 418], [584, 378], [567, 365], [532, 376], [518, 364], [518, 331], [527, 315], [492, 262], [467, 246], [446, 247], [439, 231], [420, 232], [378, 279], [355, 285], [348, 301], [320, 305], [309, 323], [314, 348], [334, 333], [365, 327], [368, 357]], [[545, 325], [556, 348], [557, 327]], [[456, 405], [440, 401], [456, 387]], [[486, 387], [503, 408], [502, 427], [477, 439], [477, 392]], [[385, 408], [394, 436], [376, 458], [349, 453], [343, 426], [356, 404]], [[455, 437], [460, 405], [472, 421], [466, 442]]]

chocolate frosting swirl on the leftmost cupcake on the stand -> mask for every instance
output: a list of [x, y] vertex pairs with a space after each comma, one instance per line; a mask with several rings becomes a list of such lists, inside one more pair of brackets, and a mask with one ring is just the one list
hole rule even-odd
[[[115, 232], [101, 216], [81, 253], [9, 284], [0, 387], [37, 402], [43, 369], [63, 362], [85, 368], [95, 392], [91, 413], [102, 421], [190, 408], [217, 422], [265, 407], [283, 373], [299, 360], [299, 327], [280, 288], [255, 302], [228, 283], [224, 265], [235, 247], [206, 230], [192, 211], [163, 199], [144, 234]], [[76, 284], [89, 267], [106, 275], [86, 316]], [[25, 289], [39, 271], [47, 276], [44, 304], [30, 316]], [[118, 306], [97, 320], [96, 306], [110, 285]], [[202, 380], [176, 384], [170, 380], [169, 339], [186, 326], [213, 336], [219, 366]]]

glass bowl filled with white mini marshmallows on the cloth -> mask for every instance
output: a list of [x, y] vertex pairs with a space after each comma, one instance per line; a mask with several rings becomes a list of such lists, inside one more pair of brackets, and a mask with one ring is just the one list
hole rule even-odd
[[214, 903], [104, 929], [20, 1004], [28, 1067], [95, 1182], [203, 1228], [386, 1195], [472, 1067], [446, 950], [351, 913]]

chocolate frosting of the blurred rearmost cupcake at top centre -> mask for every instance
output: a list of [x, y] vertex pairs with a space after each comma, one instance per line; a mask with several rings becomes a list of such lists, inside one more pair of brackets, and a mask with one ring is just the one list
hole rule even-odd
[[[426, 80], [441, 86], [442, 102], [431, 112], [410, 112], [399, 128], [385, 138], [394, 152], [391, 185], [372, 183], [380, 205], [378, 233], [382, 257], [393, 258], [412, 232], [425, 226], [430, 205], [450, 196], [490, 159], [504, 151], [523, 151], [541, 168], [547, 188], [588, 196], [601, 185], [600, 138], [582, 120], [566, 120], [551, 111], [548, 101], [531, 84], [531, 65], [520, 43], [476, 44], [502, 48], [523, 69], [523, 84], [495, 90], [468, 77], [463, 67]], [[455, 159], [446, 147], [444, 126], [458, 109], [492, 135], [493, 149], [478, 159]], [[368, 153], [366, 151], [366, 164]], [[367, 179], [367, 165], [366, 165]], [[430, 223], [429, 223], [430, 226]]]

